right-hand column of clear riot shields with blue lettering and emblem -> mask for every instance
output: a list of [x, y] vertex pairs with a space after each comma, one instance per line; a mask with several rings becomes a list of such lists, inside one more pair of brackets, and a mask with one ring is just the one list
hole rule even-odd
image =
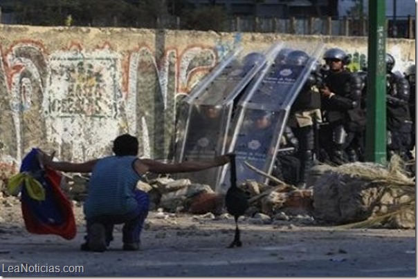
[[[302, 50], [309, 58], [303, 64], [285, 63], [284, 57], [280, 57], [284, 50], [289, 53]], [[246, 91], [228, 130], [228, 152], [237, 154], [237, 183], [245, 180], [268, 182], [264, 175], [251, 170], [246, 163], [271, 174], [291, 105], [322, 50], [322, 44], [305, 47], [285, 44], [275, 53], [275, 59], [269, 59], [267, 67]], [[226, 165], [221, 170], [217, 191], [226, 192], [229, 180], [229, 166]]]

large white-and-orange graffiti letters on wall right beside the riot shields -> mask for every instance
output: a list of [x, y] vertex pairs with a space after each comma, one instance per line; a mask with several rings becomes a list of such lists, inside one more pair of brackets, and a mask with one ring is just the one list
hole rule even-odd
[[141, 46], [127, 59], [127, 130], [140, 141], [145, 157], [165, 157], [174, 129], [175, 97], [188, 93], [215, 66], [212, 48], [189, 46], [183, 52], [165, 50], [156, 61], [152, 49]]

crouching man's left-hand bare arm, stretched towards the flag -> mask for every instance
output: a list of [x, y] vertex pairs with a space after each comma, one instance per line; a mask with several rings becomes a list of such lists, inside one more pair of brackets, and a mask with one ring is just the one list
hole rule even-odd
[[90, 160], [83, 163], [71, 163], [71, 162], [54, 162], [53, 156], [48, 155], [42, 151], [39, 151], [39, 162], [44, 165], [48, 166], [51, 169], [55, 169], [57, 171], [64, 171], [69, 173], [91, 173], [93, 170], [93, 166], [98, 161]]

